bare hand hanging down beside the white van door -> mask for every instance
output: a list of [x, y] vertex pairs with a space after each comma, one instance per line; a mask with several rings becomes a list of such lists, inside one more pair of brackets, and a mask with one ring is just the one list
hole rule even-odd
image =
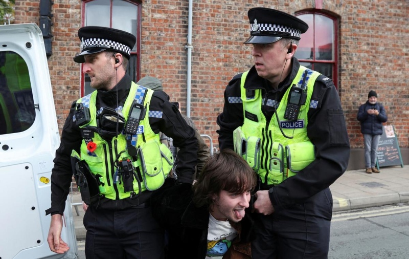
[[61, 239], [62, 230], [62, 215], [51, 215], [50, 230], [48, 232], [47, 242], [50, 250], [55, 253], [65, 253], [70, 249], [68, 245]]

